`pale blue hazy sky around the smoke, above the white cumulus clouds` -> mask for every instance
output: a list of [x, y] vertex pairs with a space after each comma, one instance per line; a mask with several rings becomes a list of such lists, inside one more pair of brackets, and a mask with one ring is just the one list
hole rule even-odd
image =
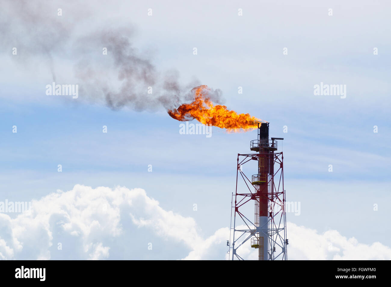
[[[270, 135], [284, 137], [287, 200], [301, 202], [300, 216], [288, 214], [289, 222], [319, 234], [337, 230], [362, 244], [391, 246], [389, 3], [93, 3], [75, 10], [59, 1], [45, 5], [42, 13], [54, 9], [56, 16], [57, 6], [63, 7], [63, 25], [74, 21], [79, 27], [72, 39], [90, 32], [85, 23], [134, 27], [133, 45], [150, 55], [156, 70], [176, 69], [183, 83], [196, 77], [221, 89], [228, 109], [269, 121]], [[148, 8], [153, 16], [147, 16]], [[239, 8], [243, 16], [238, 16]], [[329, 8], [333, 16], [328, 16]], [[89, 15], [78, 18], [83, 11]], [[179, 122], [163, 107], [113, 111], [91, 103], [86, 94], [78, 99], [47, 96], [52, 74], [46, 56], [27, 55], [27, 40], [26, 48], [12, 55], [10, 42], [2, 43], [6, 49], [0, 55], [1, 198], [31, 201], [57, 189], [70, 191], [76, 184], [120, 185], [142, 188], [162, 209], [193, 217], [204, 237], [229, 226], [236, 156], [250, 152], [256, 131], [228, 134], [213, 127], [210, 138], [181, 135]], [[288, 55], [283, 55], [284, 47]], [[374, 47], [378, 55], [373, 55]], [[51, 54], [56, 82], [77, 84], [73, 67], [80, 55], [68, 47]], [[345, 84], [346, 98], [315, 96], [314, 85], [320, 82]], [[238, 94], [239, 86], [243, 94]], [[107, 134], [102, 133], [104, 125]], [[328, 172], [329, 164], [333, 172]], [[135, 234], [124, 228], [121, 242], [161, 238], [153, 230], [140, 230]], [[179, 259], [189, 252], [171, 242], [158, 250], [152, 257], [137, 248], [126, 254]], [[109, 258], [121, 256], [114, 250]]]

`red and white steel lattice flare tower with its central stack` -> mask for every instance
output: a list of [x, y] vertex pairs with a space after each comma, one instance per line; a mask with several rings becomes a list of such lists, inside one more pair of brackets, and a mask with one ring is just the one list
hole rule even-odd
[[[269, 123], [262, 123], [258, 139], [250, 144], [256, 153], [238, 153], [235, 202], [231, 205], [231, 260], [243, 260], [240, 247], [244, 244], [258, 250], [258, 260], [287, 260], [283, 153], [277, 152], [277, 139], [282, 140], [269, 140]], [[250, 178], [243, 170], [252, 160], [258, 163], [258, 173]]]

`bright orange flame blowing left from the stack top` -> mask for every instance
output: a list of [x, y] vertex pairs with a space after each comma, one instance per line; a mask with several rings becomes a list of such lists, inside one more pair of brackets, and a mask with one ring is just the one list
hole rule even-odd
[[258, 127], [258, 123], [262, 122], [262, 120], [249, 114], [238, 114], [235, 111], [228, 111], [224, 105], [213, 105], [208, 97], [209, 89], [206, 85], [193, 88], [194, 102], [184, 103], [173, 111], [169, 110], [169, 115], [178, 121], [196, 119], [200, 123], [226, 128], [233, 132], [238, 132], [240, 129], [245, 131], [253, 130]]

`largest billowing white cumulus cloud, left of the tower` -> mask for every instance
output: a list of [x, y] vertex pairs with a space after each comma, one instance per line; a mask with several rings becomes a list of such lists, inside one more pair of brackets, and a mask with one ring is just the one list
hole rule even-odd
[[[115, 259], [110, 249], [128, 248], [131, 238], [115, 243], [113, 239], [129, 234], [126, 228], [132, 229], [133, 237], [141, 237], [138, 230], [143, 227], [187, 249], [204, 242], [193, 218], [163, 210], [143, 189], [75, 185], [32, 201], [27, 214], [0, 214], [0, 258], [56, 259], [66, 252], [72, 259]], [[62, 250], [57, 252], [59, 243]]]

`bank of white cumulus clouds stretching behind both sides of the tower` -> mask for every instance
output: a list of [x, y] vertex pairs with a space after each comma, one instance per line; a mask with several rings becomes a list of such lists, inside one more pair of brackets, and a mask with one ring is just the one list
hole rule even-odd
[[[227, 227], [204, 238], [192, 217], [162, 209], [143, 189], [75, 185], [33, 201], [30, 214], [15, 218], [0, 214], [0, 259], [116, 259], [118, 250], [129, 250], [130, 237], [142, 237], [143, 230], [168, 239], [166, 244], [183, 246], [178, 259], [228, 258]], [[335, 230], [319, 234], [289, 223], [288, 235], [289, 259], [391, 259], [389, 247], [379, 242], [360, 244]], [[256, 250], [246, 243], [241, 256], [256, 259]], [[138, 259], [128, 253], [127, 259]], [[161, 252], [160, 259], [167, 255]]]

